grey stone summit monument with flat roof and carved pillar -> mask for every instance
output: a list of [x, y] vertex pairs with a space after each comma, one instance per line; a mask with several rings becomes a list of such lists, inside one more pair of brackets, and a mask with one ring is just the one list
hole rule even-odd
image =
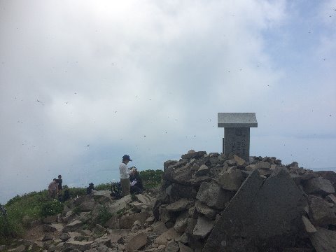
[[250, 158], [250, 127], [258, 127], [255, 113], [218, 113], [218, 127], [224, 128], [223, 153]]

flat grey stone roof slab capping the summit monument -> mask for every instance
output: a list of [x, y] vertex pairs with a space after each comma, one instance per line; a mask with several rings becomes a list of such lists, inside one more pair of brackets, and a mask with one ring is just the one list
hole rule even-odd
[[218, 113], [218, 127], [258, 127], [255, 113]]

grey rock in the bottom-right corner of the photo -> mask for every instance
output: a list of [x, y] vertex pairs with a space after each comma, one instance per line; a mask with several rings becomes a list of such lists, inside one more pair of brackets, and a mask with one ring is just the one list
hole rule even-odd
[[326, 230], [324, 228], [317, 228], [310, 237], [311, 244], [313, 244], [316, 252], [331, 252], [336, 251], [336, 232]]

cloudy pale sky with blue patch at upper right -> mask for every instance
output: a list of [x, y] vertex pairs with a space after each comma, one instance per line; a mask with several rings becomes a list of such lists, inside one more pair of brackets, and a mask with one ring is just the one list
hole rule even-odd
[[222, 151], [336, 167], [336, 1], [0, 0], [0, 202]]

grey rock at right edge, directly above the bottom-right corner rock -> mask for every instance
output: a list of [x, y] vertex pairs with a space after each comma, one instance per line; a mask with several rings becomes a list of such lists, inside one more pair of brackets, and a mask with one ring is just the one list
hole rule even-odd
[[336, 215], [330, 203], [316, 197], [314, 195], [309, 195], [309, 216], [315, 225], [336, 225]]

